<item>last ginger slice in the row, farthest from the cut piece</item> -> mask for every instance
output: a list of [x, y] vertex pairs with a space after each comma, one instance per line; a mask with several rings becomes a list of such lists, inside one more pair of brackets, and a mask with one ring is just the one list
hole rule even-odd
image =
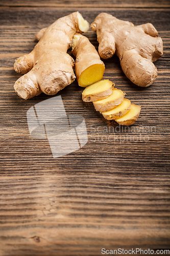
[[132, 125], [136, 122], [140, 114], [141, 106], [131, 104], [131, 109], [122, 117], [117, 118], [115, 121], [121, 125]]

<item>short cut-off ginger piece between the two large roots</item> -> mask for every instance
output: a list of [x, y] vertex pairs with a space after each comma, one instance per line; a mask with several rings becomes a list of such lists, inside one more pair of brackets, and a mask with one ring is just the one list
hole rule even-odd
[[105, 65], [86, 36], [74, 35], [72, 54], [76, 56], [75, 72], [79, 86], [87, 87], [103, 79]]

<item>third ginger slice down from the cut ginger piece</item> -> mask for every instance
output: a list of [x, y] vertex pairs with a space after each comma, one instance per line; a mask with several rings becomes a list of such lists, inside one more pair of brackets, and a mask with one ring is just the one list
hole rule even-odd
[[107, 120], [115, 120], [120, 116], [124, 116], [131, 109], [131, 101], [124, 98], [123, 102], [114, 109], [102, 112], [102, 115]]

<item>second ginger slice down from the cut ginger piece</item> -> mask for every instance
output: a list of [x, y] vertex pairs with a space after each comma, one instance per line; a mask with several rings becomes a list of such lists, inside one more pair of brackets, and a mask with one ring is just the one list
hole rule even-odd
[[113, 88], [112, 94], [110, 96], [108, 96], [105, 99], [93, 101], [93, 105], [96, 111], [106, 112], [115, 108], [117, 105], [122, 103], [123, 100], [124, 92], [116, 88]]

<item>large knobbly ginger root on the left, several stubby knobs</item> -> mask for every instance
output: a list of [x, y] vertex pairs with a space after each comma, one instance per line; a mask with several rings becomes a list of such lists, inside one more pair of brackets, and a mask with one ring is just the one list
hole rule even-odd
[[41, 92], [54, 95], [75, 80], [72, 70], [74, 59], [67, 54], [75, 33], [86, 32], [88, 22], [79, 12], [73, 12], [41, 29], [39, 40], [30, 54], [16, 59], [14, 69], [25, 74], [14, 84], [16, 93], [23, 99], [30, 99]]

